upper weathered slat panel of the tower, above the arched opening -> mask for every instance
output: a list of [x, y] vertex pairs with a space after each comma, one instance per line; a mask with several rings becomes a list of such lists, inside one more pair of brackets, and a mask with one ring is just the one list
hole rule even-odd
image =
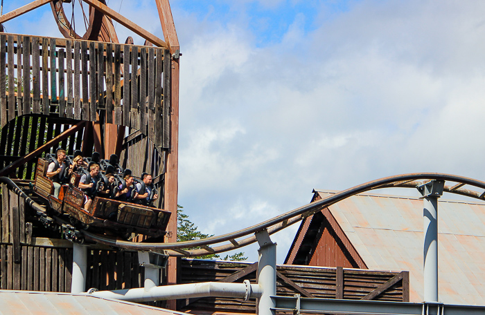
[[170, 69], [164, 48], [3, 33], [0, 126], [31, 113], [105, 117], [168, 149]]

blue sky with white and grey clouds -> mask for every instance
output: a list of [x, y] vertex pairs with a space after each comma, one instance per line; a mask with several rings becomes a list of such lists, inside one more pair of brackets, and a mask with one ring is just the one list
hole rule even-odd
[[[6, 0], [3, 12], [28, 2]], [[163, 38], [155, 1], [108, 5]], [[204, 233], [277, 216], [314, 188], [420, 171], [485, 179], [485, 1], [171, 6], [183, 54], [179, 204]], [[45, 6], [6, 28], [60, 36], [53, 23]], [[273, 237], [279, 263], [296, 229]], [[256, 260], [256, 249], [243, 251]]]

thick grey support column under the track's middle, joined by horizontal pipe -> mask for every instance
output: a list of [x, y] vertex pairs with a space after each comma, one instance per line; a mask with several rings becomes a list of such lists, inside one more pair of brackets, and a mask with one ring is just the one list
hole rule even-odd
[[263, 295], [258, 299], [258, 315], [275, 315], [276, 303], [271, 296], [276, 296], [276, 243], [270, 239], [267, 230], [256, 233], [258, 249], [258, 285]]

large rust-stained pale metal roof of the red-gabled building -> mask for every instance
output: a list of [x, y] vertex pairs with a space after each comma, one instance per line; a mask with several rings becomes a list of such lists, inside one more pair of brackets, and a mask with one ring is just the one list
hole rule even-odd
[[[423, 300], [423, 200], [361, 194], [329, 210], [369, 269], [409, 271]], [[485, 204], [439, 199], [438, 230], [439, 300], [485, 305]]]

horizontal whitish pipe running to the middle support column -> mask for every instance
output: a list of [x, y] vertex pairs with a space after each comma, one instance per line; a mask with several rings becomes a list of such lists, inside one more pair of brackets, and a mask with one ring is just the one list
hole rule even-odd
[[99, 298], [116, 298], [131, 302], [148, 302], [152, 300], [173, 300], [177, 298], [201, 298], [222, 296], [228, 298], [258, 298], [262, 292], [259, 285], [249, 283], [189, 283], [185, 285], [164, 285], [159, 287], [123, 289], [115, 291], [89, 290], [92, 296]]

